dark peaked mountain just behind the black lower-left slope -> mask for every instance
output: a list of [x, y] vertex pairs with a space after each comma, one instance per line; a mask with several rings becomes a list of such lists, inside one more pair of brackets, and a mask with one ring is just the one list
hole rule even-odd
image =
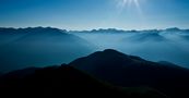
[[80, 58], [69, 65], [123, 87], [146, 86], [170, 96], [188, 98], [189, 70], [167, 62], [151, 62], [116, 50], [105, 50]]

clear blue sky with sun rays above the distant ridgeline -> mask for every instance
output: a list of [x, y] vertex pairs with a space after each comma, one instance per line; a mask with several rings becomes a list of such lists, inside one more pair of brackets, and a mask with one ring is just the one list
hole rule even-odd
[[0, 0], [0, 27], [189, 28], [189, 0]]

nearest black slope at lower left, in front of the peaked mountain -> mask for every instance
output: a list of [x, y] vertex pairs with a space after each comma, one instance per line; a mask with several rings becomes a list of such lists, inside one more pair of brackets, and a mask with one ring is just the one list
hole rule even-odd
[[27, 95], [29, 97], [167, 98], [150, 88], [120, 88], [105, 84], [67, 65], [37, 69], [24, 77], [4, 75], [0, 78], [0, 96], [5, 97], [14, 94], [14, 97]]

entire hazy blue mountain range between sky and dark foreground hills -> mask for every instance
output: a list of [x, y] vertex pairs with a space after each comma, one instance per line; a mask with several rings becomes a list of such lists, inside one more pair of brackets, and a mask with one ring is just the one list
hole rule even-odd
[[188, 29], [177, 27], [145, 30], [0, 27], [0, 72], [70, 63], [104, 49], [189, 68], [188, 36]]

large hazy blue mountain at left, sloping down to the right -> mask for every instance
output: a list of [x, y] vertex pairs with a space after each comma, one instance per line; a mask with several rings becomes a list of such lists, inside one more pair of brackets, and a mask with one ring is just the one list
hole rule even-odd
[[61, 64], [93, 49], [87, 40], [58, 28], [0, 28], [0, 71]]

